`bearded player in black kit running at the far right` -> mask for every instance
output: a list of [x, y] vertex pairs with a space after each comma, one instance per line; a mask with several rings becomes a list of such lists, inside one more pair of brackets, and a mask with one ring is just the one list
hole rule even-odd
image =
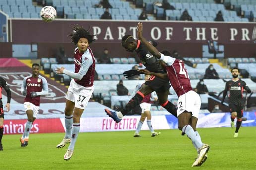
[[221, 103], [223, 104], [227, 92], [229, 91], [229, 108], [231, 113], [231, 127], [235, 127], [235, 118], [237, 118], [236, 123], [236, 131], [234, 133], [234, 137], [238, 137], [238, 130], [242, 123], [243, 117], [243, 108], [245, 105], [245, 99], [243, 97], [244, 89], [251, 93], [250, 88], [246, 85], [246, 83], [239, 79], [239, 69], [234, 67], [231, 69], [232, 79], [226, 82], [226, 86], [223, 92], [223, 97]]

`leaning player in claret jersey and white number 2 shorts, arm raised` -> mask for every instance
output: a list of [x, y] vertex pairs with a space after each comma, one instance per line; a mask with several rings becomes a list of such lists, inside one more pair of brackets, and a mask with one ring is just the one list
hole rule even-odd
[[145, 44], [150, 53], [156, 56], [158, 59], [164, 61], [166, 64], [167, 74], [154, 73], [145, 69], [140, 70], [140, 72], [157, 76], [162, 79], [169, 79], [174, 91], [179, 97], [177, 108], [178, 128], [184, 134], [187, 134], [198, 152], [197, 159], [192, 164], [192, 167], [201, 166], [207, 158], [206, 154], [209, 151], [210, 146], [202, 143], [201, 137], [198, 131], [196, 131], [196, 124], [201, 107], [200, 96], [192, 90], [189, 75], [184, 66], [184, 62], [160, 53], [153, 45], [148, 43], [142, 35], [142, 23], [138, 23], [137, 29], [138, 38]]

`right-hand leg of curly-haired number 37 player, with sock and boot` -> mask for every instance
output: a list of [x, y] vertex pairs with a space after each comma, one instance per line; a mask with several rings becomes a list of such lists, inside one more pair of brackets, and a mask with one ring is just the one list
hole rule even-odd
[[74, 108], [74, 114], [73, 114], [73, 128], [72, 128], [72, 133], [71, 133], [71, 143], [68, 147], [68, 150], [66, 154], [64, 155], [64, 160], [69, 160], [73, 153], [74, 153], [74, 146], [80, 131], [80, 118], [83, 114], [84, 109], [80, 108]]

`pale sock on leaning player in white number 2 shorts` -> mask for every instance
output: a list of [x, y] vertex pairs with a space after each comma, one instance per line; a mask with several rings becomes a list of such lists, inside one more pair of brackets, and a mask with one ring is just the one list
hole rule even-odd
[[192, 140], [192, 143], [194, 143], [194, 146], [196, 146], [196, 148], [200, 148], [203, 146], [202, 141], [200, 140], [201, 138], [196, 137], [196, 133], [194, 132], [194, 129], [190, 125], [185, 125], [182, 128], [182, 131], [187, 134], [190, 140]]

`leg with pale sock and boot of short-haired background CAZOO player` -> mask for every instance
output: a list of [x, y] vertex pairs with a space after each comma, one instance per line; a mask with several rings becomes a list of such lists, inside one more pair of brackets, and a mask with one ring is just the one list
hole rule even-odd
[[25, 147], [25, 146], [28, 145], [29, 132], [30, 132], [30, 129], [32, 127], [32, 124], [33, 124], [34, 120], [36, 119], [36, 118], [33, 117], [33, 110], [27, 110], [26, 114], [27, 114], [27, 117], [28, 117], [28, 121], [26, 123], [24, 133], [19, 139], [21, 147]]

